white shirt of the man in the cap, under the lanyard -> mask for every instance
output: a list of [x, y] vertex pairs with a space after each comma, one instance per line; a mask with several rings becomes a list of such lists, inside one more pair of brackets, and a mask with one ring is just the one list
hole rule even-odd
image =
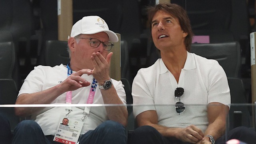
[[[74, 71], [73, 71], [74, 73]], [[64, 81], [67, 78], [68, 68], [61, 64], [60, 66], [36, 66], [34, 70], [28, 74], [24, 80], [20, 89], [20, 94], [31, 94], [35, 92], [41, 92], [58, 85], [59, 81]], [[93, 76], [83, 74], [82, 78], [92, 83]], [[113, 86], [116, 88], [116, 92], [124, 104], [126, 104], [126, 94], [124, 91], [124, 85], [121, 81], [112, 79]], [[72, 104], [86, 104], [88, 95], [90, 92], [90, 86], [78, 88], [72, 91]], [[51, 104], [66, 104], [66, 92], [61, 94], [52, 101]], [[93, 104], [104, 104], [100, 89], [96, 88]], [[68, 115], [69, 118], [81, 120], [84, 112], [84, 107], [72, 107], [72, 112]], [[46, 107], [34, 114], [31, 119], [35, 120], [45, 135], [54, 135], [56, 133], [61, 113], [66, 114], [66, 107]], [[63, 118], [63, 115], [62, 115]], [[109, 120], [105, 106], [92, 106], [90, 108], [90, 116], [86, 118], [84, 126], [82, 127], [81, 134], [84, 134], [88, 130], [94, 130], [102, 122]]]

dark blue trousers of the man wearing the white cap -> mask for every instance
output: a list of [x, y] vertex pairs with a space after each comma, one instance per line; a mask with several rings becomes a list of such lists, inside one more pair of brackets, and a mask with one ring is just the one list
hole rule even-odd
[[[54, 136], [44, 136], [40, 126], [33, 120], [23, 120], [14, 129], [12, 144], [60, 144]], [[79, 144], [126, 144], [125, 128], [122, 124], [108, 120], [95, 130], [80, 137]]]

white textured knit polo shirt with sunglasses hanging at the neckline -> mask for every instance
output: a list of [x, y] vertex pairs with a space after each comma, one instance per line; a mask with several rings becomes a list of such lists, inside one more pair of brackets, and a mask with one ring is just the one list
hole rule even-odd
[[[187, 54], [178, 83], [162, 59], [138, 71], [132, 84], [135, 118], [144, 111], [156, 110], [160, 125], [186, 128], [194, 124], [204, 132], [208, 126], [207, 104], [219, 102], [230, 106], [228, 80], [220, 64], [216, 60]], [[186, 108], [180, 114], [175, 109], [178, 101], [174, 90], [177, 87], [184, 88], [180, 102]]]

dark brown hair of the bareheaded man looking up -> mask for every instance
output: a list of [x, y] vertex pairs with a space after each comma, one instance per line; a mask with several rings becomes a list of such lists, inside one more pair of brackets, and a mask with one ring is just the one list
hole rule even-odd
[[152, 28], [152, 25], [151, 25], [152, 19], [153, 19], [154, 15], [156, 14], [156, 12], [158, 12], [159, 10], [162, 10], [168, 14], [171, 14], [172, 16], [174, 16], [174, 18], [177, 18], [179, 20], [181, 29], [184, 32], [188, 33], [188, 36], [186, 36], [186, 38], [185, 38], [185, 46], [186, 46], [186, 50], [190, 51], [192, 37], [194, 36], [194, 34], [192, 32], [190, 20], [188, 18], [186, 11], [181, 6], [179, 6], [177, 4], [171, 4], [171, 3], [167, 3], [167, 2], [162, 2], [162, 3], [156, 4], [156, 6], [147, 7], [148, 22], [150, 25], [150, 30]]

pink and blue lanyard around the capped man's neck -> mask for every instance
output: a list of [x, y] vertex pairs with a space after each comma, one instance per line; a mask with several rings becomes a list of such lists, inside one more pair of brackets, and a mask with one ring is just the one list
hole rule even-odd
[[[72, 74], [72, 70], [70, 69], [69, 64], [67, 65], [67, 68], [68, 68], [68, 76], [70, 76]], [[92, 104], [93, 103], [97, 85], [98, 85], [98, 82], [95, 80], [95, 78], [93, 78], [92, 86], [91, 86], [86, 104]], [[72, 104], [72, 91], [66, 92], [66, 104]], [[66, 111], [68, 112], [66, 114], [66, 116], [68, 116], [68, 114], [70, 112], [72, 112], [72, 108], [67, 107]], [[86, 108], [84, 109], [84, 112], [83, 112], [82, 120], [84, 120], [85, 117], [89, 116], [89, 112], [90, 112], [90, 106], [86, 106]]]

